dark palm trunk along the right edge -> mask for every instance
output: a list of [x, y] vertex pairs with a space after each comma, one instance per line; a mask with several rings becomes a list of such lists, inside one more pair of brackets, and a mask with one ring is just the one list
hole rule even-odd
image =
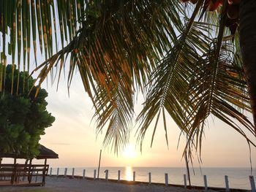
[[256, 134], [256, 1], [241, 0], [240, 47]]

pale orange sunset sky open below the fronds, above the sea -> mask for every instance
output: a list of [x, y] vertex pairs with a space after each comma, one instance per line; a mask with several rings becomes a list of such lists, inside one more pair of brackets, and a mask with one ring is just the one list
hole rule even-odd
[[[62, 78], [59, 91], [56, 82], [44, 87], [48, 91], [48, 111], [55, 116], [53, 126], [46, 129], [40, 143], [59, 153], [58, 160], [50, 160], [50, 166], [89, 167], [97, 166], [99, 150], [102, 148], [104, 132], [96, 135], [95, 121], [91, 101], [83, 89], [79, 74], [73, 78], [70, 96], [67, 82]], [[143, 97], [139, 96], [135, 108], [138, 113]], [[154, 126], [154, 125], [153, 125]], [[165, 131], [161, 123], [156, 131], [153, 147], [150, 147], [153, 126], [149, 129], [140, 153], [136, 145], [134, 131], [131, 134], [128, 150], [116, 155], [110, 148], [102, 148], [102, 166], [185, 166], [181, 158], [184, 149], [184, 137], [181, 137], [177, 149], [180, 131], [173, 120], [167, 118], [169, 149], [165, 142]], [[127, 154], [128, 153], [128, 154]], [[249, 147], [233, 128], [209, 118], [203, 139], [203, 167], [249, 167]], [[252, 147], [252, 166], [256, 161], [256, 149]], [[197, 156], [194, 166], [199, 166]]]

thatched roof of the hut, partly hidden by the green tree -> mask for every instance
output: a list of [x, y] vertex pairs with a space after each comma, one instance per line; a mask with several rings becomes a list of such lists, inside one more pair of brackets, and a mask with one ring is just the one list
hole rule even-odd
[[[23, 155], [17, 153], [1, 153], [0, 158], [26, 158]], [[42, 159], [42, 158], [59, 158], [59, 155], [55, 153], [53, 150], [48, 149], [43, 145], [39, 145], [39, 155], [35, 158]]]

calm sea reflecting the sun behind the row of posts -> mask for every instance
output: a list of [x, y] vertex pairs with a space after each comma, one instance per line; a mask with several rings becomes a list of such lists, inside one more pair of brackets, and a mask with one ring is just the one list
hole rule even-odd
[[[59, 168], [59, 174], [64, 174], [64, 167]], [[83, 175], [83, 169], [86, 169], [86, 177], [94, 177], [94, 169], [96, 167], [77, 167], [75, 175]], [[105, 178], [105, 170], [108, 169], [108, 178], [116, 179], [118, 170], [121, 171], [121, 180], [133, 180], [133, 172], [136, 172], [136, 181], [148, 182], [148, 172], [151, 172], [152, 183], [165, 183], [165, 173], [168, 174], [170, 184], [184, 185], [185, 168], [170, 168], [170, 167], [101, 167], [99, 178]], [[208, 186], [225, 188], [225, 175], [228, 176], [230, 188], [251, 189], [249, 183], [250, 168], [195, 168], [195, 174], [192, 169], [191, 184], [203, 186], [203, 175], [207, 175]], [[53, 167], [53, 174], [56, 174], [57, 168]], [[72, 168], [67, 169], [67, 174], [72, 174]], [[256, 168], [252, 169], [252, 175], [256, 178]]]

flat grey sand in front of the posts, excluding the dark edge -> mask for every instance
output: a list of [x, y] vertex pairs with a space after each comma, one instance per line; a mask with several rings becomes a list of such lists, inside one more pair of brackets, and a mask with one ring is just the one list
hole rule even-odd
[[[46, 177], [46, 184], [43, 187], [1, 187], [0, 191], [38, 191], [38, 192], [58, 192], [58, 191], [86, 191], [86, 192], [161, 192], [161, 191], [186, 191], [184, 188], [178, 188], [165, 185], [148, 185], [140, 183], [135, 185], [116, 183], [105, 180], [83, 180], [67, 177]], [[187, 190], [195, 191], [195, 190]]]

